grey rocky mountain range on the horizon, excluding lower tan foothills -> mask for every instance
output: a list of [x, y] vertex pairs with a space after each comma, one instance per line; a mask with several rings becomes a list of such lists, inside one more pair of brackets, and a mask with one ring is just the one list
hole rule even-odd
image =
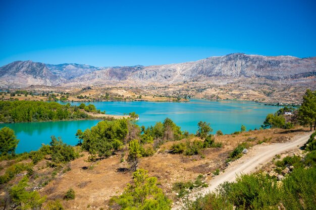
[[0, 67], [0, 88], [31, 85], [82, 87], [104, 85], [162, 86], [177, 83], [225, 85], [240, 79], [284, 84], [305, 84], [314, 88], [316, 57], [262, 56], [233, 53], [165, 65], [95, 67], [64, 63], [45, 64], [15, 61]]

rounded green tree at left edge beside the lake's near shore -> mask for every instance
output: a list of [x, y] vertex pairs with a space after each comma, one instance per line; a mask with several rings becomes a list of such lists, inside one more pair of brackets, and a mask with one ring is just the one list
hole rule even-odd
[[14, 130], [9, 127], [0, 129], [0, 155], [15, 154], [15, 149], [19, 144]]

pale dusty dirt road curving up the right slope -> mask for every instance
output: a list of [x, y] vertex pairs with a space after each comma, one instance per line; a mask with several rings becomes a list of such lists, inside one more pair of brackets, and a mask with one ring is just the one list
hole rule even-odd
[[[256, 171], [256, 168], [259, 165], [268, 163], [274, 156], [303, 146], [307, 142], [311, 133], [312, 132], [308, 132], [303, 135], [298, 135], [294, 138], [293, 141], [287, 143], [255, 145], [254, 147], [249, 149], [249, 152], [246, 155], [244, 155], [237, 161], [234, 161], [225, 170], [224, 173], [221, 173], [219, 176], [214, 177], [208, 183], [208, 187], [202, 188], [200, 191], [192, 193], [188, 196], [188, 198], [190, 200], [195, 200], [198, 193], [204, 195], [208, 192], [212, 192], [225, 181], [235, 181], [236, 175], [249, 174]], [[175, 205], [172, 209], [180, 208], [180, 205]]]

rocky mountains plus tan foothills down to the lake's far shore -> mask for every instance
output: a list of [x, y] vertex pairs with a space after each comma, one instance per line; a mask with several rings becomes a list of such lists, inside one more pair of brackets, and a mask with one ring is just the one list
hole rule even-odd
[[234, 53], [198, 61], [94, 67], [16, 61], [0, 67], [0, 88], [139, 88], [156, 95], [299, 103], [316, 87], [316, 58]]

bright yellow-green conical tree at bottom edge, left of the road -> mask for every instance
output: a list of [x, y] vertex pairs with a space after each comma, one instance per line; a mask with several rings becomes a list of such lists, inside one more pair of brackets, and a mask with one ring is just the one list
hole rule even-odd
[[138, 169], [133, 173], [133, 184], [128, 184], [120, 196], [111, 198], [111, 204], [129, 210], [168, 210], [172, 201], [157, 187], [157, 178], [148, 177], [148, 172]]

